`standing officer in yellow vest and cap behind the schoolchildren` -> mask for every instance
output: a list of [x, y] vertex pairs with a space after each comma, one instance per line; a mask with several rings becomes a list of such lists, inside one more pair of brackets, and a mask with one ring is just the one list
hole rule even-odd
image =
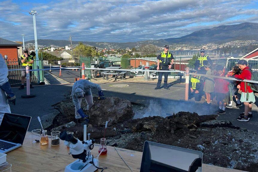
[[198, 69], [198, 74], [206, 74], [206, 70], [204, 69], [204, 65], [209, 62], [212, 64], [212, 60], [208, 55], [205, 55], [204, 48], [201, 48], [200, 50], [200, 56], [198, 56], [198, 59], [195, 61], [195, 69]]

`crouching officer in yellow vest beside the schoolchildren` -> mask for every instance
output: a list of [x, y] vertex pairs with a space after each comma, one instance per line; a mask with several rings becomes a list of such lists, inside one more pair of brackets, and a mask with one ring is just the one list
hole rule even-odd
[[[197, 70], [192, 69], [192, 73], [197, 73]], [[192, 75], [190, 79], [190, 87], [189, 87], [189, 99], [195, 98], [195, 101], [201, 101], [201, 96], [204, 95], [203, 92], [203, 83], [200, 81], [200, 77], [198, 75]]]

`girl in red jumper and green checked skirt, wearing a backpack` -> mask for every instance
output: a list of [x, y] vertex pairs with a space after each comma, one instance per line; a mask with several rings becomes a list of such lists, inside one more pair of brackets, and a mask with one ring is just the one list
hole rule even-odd
[[[238, 67], [242, 70], [242, 73], [239, 75], [235, 75], [235, 78], [244, 80], [251, 80], [252, 73], [247, 66], [246, 60], [239, 60]], [[252, 103], [255, 102], [254, 92], [250, 86], [248, 86], [247, 82], [240, 82], [237, 86], [238, 89], [242, 91], [240, 101], [244, 102], [245, 105], [245, 112], [240, 113], [239, 117], [237, 118], [238, 121], [249, 121], [250, 117], [252, 116]]]

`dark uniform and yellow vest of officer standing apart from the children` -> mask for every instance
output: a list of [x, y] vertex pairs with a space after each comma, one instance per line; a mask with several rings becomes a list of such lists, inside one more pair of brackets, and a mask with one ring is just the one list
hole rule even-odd
[[[162, 51], [161, 54], [158, 55], [157, 59], [160, 61], [160, 70], [168, 71], [170, 62], [172, 59], [174, 59], [174, 57], [171, 52], [168, 51], [167, 53], [165, 53], [164, 51]], [[163, 74], [164, 74], [164, 87], [167, 87], [169, 72], [158, 72], [158, 74], [159, 74], [159, 79], [158, 79], [157, 87], [159, 88], [161, 85]]]

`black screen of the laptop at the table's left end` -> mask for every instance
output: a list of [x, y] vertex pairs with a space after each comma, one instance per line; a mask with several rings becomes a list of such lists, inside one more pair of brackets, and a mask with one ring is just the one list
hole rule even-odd
[[0, 125], [0, 139], [22, 144], [30, 121], [30, 116], [5, 113]]

